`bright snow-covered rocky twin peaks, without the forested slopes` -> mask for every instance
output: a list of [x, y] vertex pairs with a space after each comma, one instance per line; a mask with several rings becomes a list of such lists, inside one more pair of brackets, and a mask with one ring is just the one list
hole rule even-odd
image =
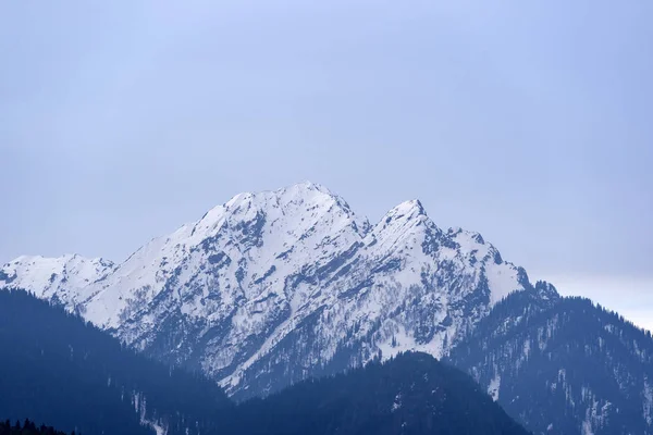
[[402, 350], [441, 357], [531, 288], [479, 234], [442, 231], [419, 201], [372, 226], [311, 183], [237, 195], [119, 265], [19, 258], [2, 286], [56, 299], [242, 396]]

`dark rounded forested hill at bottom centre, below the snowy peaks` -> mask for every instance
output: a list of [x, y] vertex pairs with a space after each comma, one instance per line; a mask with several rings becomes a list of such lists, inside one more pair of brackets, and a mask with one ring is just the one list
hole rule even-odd
[[526, 435], [463, 372], [404, 353], [238, 406], [224, 434]]

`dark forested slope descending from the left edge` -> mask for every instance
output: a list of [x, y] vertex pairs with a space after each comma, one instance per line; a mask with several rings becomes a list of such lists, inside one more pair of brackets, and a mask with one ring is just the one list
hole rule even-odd
[[150, 361], [24, 291], [0, 291], [0, 420], [83, 434], [197, 434], [222, 407], [214, 383]]

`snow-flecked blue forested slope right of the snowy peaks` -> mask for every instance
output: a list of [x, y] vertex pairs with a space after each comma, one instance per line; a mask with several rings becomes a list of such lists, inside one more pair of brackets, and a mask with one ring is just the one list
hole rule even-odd
[[537, 434], [653, 434], [651, 333], [587, 299], [513, 295], [448, 361]]

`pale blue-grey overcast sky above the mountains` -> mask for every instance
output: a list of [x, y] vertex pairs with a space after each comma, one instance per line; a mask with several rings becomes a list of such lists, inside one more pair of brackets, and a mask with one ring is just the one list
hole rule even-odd
[[419, 198], [653, 328], [653, 2], [0, 2], [0, 263], [246, 190]]

